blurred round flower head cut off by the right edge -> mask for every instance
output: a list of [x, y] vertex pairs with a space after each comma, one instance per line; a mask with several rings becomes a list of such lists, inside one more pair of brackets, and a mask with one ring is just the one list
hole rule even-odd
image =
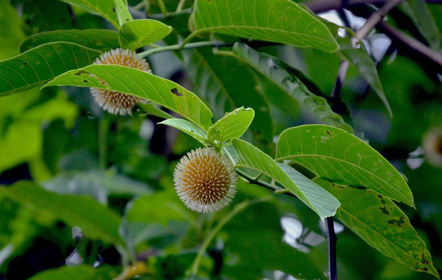
[[424, 137], [422, 143], [425, 158], [435, 167], [442, 167], [442, 127], [436, 127]]

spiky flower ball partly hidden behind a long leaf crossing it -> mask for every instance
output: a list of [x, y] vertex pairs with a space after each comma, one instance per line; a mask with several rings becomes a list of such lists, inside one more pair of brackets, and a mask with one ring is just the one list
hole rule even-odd
[[[139, 57], [139, 55], [133, 50], [123, 50], [121, 48], [104, 52], [99, 58], [97, 58], [97, 61], [95, 61], [94, 64], [116, 64], [152, 73], [151, 67], [149, 66], [149, 63], [146, 62], [146, 59]], [[109, 113], [119, 113], [122, 116], [132, 114], [132, 108], [135, 104], [143, 100], [134, 97], [133, 95], [112, 92], [102, 88], [91, 87], [90, 93], [92, 93], [98, 106], [109, 111]]]

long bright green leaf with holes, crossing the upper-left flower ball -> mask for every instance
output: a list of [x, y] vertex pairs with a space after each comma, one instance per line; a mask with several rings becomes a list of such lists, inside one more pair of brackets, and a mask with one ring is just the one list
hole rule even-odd
[[212, 112], [195, 94], [171, 80], [126, 66], [90, 65], [63, 73], [44, 87], [50, 85], [97, 87], [132, 94], [175, 111], [205, 130], [212, 125]]

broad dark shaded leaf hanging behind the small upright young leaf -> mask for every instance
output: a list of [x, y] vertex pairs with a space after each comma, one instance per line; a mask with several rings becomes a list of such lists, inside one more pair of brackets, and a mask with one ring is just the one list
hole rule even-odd
[[[272, 141], [273, 123], [270, 107], [259, 92], [258, 79], [247, 64], [237, 59], [214, 55], [212, 48], [186, 51], [184, 62], [197, 85], [200, 97], [205, 99], [216, 118], [241, 106], [255, 111], [251, 131], [265, 141]], [[241, 77], [241, 83], [232, 77]]]

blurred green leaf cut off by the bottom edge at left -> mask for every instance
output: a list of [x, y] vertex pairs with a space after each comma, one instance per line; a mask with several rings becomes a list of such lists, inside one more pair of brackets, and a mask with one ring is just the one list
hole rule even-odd
[[57, 267], [40, 272], [29, 280], [108, 280], [118, 276], [113, 267], [76, 265], [74, 267]]

